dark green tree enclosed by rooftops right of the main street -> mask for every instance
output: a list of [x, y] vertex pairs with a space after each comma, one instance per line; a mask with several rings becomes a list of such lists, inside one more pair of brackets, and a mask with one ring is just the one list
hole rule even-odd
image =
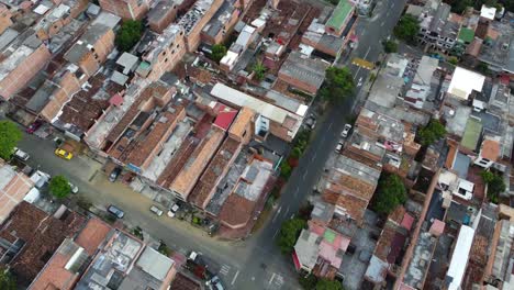
[[398, 175], [382, 176], [373, 198], [375, 211], [389, 214], [399, 204], [406, 201], [406, 189], [402, 179]]

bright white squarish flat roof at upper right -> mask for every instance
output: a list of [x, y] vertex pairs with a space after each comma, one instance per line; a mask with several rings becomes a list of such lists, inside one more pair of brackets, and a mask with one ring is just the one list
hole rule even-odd
[[466, 68], [457, 67], [451, 77], [448, 92], [467, 100], [471, 91], [482, 91], [485, 77]]

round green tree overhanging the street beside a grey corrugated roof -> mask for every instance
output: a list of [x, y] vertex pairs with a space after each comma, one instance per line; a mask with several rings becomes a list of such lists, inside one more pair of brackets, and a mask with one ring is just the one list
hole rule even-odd
[[354, 93], [354, 77], [348, 68], [329, 67], [319, 93], [322, 99], [335, 103]]

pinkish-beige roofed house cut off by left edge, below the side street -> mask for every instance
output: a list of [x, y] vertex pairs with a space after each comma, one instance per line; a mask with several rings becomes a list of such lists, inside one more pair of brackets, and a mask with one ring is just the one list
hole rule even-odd
[[27, 194], [38, 194], [34, 181], [0, 159], [0, 224], [9, 219], [20, 202], [31, 198]]

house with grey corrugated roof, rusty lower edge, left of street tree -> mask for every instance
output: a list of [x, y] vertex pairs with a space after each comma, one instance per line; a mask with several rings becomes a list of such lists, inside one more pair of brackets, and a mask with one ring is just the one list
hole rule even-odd
[[292, 52], [280, 67], [278, 77], [295, 89], [316, 94], [325, 80], [325, 70], [328, 67], [329, 64], [324, 60], [302, 56], [300, 52]]

